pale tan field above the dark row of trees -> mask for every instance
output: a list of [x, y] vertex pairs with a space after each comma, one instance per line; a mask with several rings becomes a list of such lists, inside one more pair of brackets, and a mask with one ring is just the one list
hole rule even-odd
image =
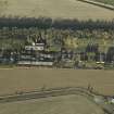
[[114, 12], [77, 0], [0, 0], [0, 15], [52, 18], [112, 20]]

